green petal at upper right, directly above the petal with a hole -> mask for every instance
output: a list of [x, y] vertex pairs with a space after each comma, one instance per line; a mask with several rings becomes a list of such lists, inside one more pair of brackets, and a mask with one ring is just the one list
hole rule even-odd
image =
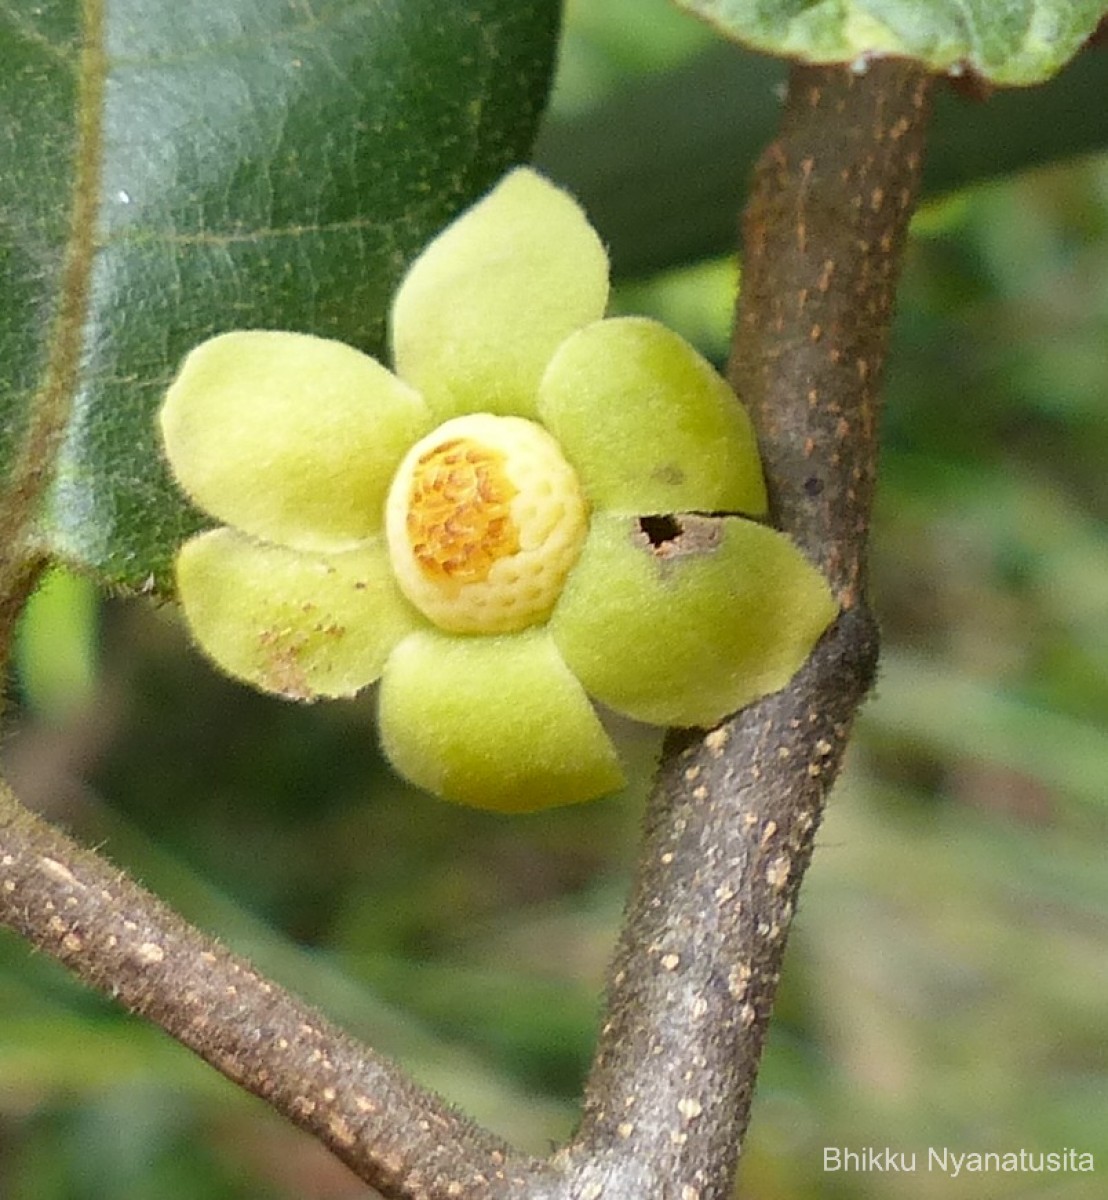
[[539, 385], [539, 419], [599, 509], [766, 511], [747, 410], [655, 320], [616, 317], [567, 338]]

